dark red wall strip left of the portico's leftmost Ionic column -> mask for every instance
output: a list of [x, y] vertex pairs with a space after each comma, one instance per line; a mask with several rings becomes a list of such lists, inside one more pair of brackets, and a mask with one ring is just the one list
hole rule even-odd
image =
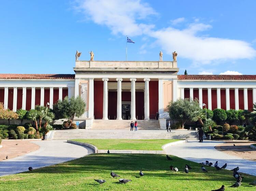
[[103, 117], [103, 81], [94, 81], [94, 116], [95, 119]]

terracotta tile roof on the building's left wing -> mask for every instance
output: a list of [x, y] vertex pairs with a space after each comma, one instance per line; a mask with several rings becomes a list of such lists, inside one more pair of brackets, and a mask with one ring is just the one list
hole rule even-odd
[[0, 74], [0, 79], [75, 79], [75, 74]]

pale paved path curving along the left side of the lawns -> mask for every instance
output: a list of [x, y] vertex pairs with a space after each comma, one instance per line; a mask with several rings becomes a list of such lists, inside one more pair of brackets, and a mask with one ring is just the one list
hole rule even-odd
[[40, 149], [23, 156], [0, 162], [0, 176], [16, 174], [33, 169], [51, 166], [92, 154], [88, 147], [67, 143], [66, 140], [32, 141]]

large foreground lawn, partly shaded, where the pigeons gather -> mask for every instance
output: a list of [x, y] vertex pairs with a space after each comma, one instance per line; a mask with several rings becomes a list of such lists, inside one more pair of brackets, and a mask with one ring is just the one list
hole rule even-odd
[[[190, 162], [175, 156], [168, 161], [165, 155], [152, 154], [93, 154], [51, 167], [36, 169], [10, 176], [0, 177], [0, 190], [174, 190], [174, 191], [205, 191], [218, 189], [225, 185], [225, 191], [255, 190], [248, 185], [255, 176], [244, 174], [239, 188], [229, 188], [235, 179], [232, 171], [217, 171], [207, 167], [208, 173], [201, 171], [198, 163]], [[192, 167], [188, 174], [183, 172], [185, 164]], [[171, 172], [169, 166], [177, 167], [179, 172]], [[139, 176], [139, 171], [145, 174]], [[120, 178], [131, 179], [128, 184], [119, 184], [117, 178], [112, 178], [114, 171]], [[106, 183], [99, 185], [94, 179], [105, 179]]]

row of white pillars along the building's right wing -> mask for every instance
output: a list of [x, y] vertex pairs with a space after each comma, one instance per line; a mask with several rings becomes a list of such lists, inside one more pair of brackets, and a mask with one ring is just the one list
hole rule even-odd
[[[208, 89], [208, 109], [212, 110], [212, 88]], [[226, 110], [230, 109], [230, 98], [229, 98], [229, 88], [226, 89]], [[235, 91], [235, 109], [239, 110], [239, 88], [234, 88]], [[203, 99], [202, 99], [202, 88], [198, 88], [199, 90], [199, 105], [203, 107]], [[248, 109], [248, 93], [247, 88], [243, 88], [244, 90], [244, 109]], [[189, 97], [190, 99], [194, 98], [193, 88], [189, 88]], [[181, 88], [181, 98], [184, 99], [184, 88]], [[256, 88], [253, 88], [253, 103], [256, 102]], [[217, 108], [221, 108], [221, 88], [217, 88]]]

